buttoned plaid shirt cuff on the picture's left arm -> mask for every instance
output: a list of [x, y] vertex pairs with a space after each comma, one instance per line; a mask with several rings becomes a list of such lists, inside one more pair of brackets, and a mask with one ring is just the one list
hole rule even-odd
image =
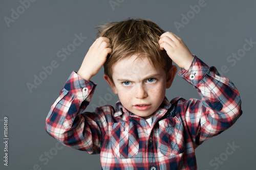
[[77, 96], [79, 100], [90, 102], [96, 86], [93, 82], [84, 80], [75, 71], [72, 71], [63, 88]]

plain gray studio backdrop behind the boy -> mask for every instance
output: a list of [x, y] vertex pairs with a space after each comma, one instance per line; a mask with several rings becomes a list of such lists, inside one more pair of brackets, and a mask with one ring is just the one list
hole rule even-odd
[[[189, 13], [189, 6], [198, 5], [198, 1], [113, 1], [118, 4], [114, 8], [109, 0], [35, 1], [24, 11], [19, 7], [19, 1], [0, 2], [0, 141], [4, 138], [4, 116], [9, 118], [10, 138], [8, 167], [3, 165], [4, 145], [0, 142], [0, 168], [100, 169], [99, 155], [59, 148], [60, 145], [56, 149], [57, 141], [45, 131], [45, 119], [71, 71], [79, 69], [95, 39], [94, 28], [105, 21], [132, 17], [150, 19], [163, 30], [177, 34], [191, 53], [209, 66], [214, 65], [220, 70], [226, 65], [228, 71], [223, 75], [240, 91], [243, 115], [233, 127], [204, 142], [196, 150], [198, 169], [254, 169], [256, 45], [233, 66], [227, 58], [243, 48], [245, 39], [256, 41], [256, 1], [205, 0], [205, 7], [195, 16]], [[12, 9], [17, 11], [17, 8], [21, 14], [8, 27], [4, 17], [11, 18]], [[174, 22], [181, 23], [181, 14], [187, 15], [187, 12], [191, 19], [178, 31]], [[72, 44], [75, 34], [80, 33], [87, 38], [65, 60], [58, 58], [57, 52]], [[42, 66], [50, 65], [53, 60], [58, 67], [53, 68], [47, 78], [30, 92], [26, 84], [33, 84], [34, 75], [42, 74]], [[105, 98], [114, 105], [117, 96], [108, 91], [103, 69], [92, 81], [98, 86], [91, 104], [98, 106], [99, 100], [102, 102]], [[176, 96], [199, 98], [194, 87], [178, 76], [166, 96], [169, 100]], [[88, 109], [92, 111], [93, 107], [89, 105]], [[233, 142], [239, 148], [227, 155], [227, 143]], [[49, 158], [45, 155], [47, 152]], [[221, 162], [214, 161], [215, 164], [211, 165], [209, 162], [215, 157], [221, 157]]]

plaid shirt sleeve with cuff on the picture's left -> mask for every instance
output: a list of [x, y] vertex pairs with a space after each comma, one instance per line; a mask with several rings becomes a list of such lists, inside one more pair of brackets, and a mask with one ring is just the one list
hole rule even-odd
[[[104, 133], [104, 115], [84, 112], [91, 101], [96, 84], [72, 72], [46, 118], [46, 131], [59, 142], [89, 154], [100, 152]], [[92, 135], [94, 134], [94, 135]]]

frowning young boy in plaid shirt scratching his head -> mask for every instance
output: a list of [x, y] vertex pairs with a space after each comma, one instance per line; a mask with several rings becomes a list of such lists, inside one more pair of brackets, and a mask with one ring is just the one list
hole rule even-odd
[[[99, 27], [78, 72], [72, 72], [46, 119], [46, 131], [74, 149], [99, 154], [102, 169], [197, 169], [195, 149], [242, 114], [237, 88], [154, 22], [127, 19]], [[168, 101], [179, 76], [201, 100]], [[85, 111], [104, 65], [116, 107]]]

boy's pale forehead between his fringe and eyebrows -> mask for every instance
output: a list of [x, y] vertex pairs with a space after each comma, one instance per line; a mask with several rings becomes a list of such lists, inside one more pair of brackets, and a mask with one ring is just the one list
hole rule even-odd
[[134, 76], [147, 76], [163, 74], [163, 68], [155, 68], [147, 57], [132, 55], [118, 61], [113, 67], [113, 78], [133, 78]]

